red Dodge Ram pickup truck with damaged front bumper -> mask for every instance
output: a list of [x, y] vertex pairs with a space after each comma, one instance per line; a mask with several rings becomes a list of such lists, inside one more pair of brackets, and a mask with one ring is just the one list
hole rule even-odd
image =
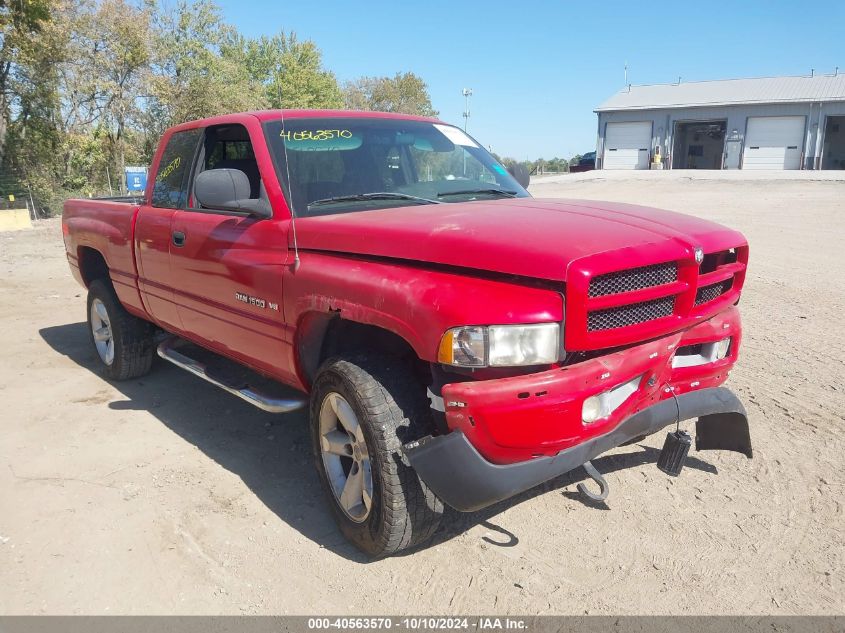
[[[371, 555], [426, 540], [444, 503], [477, 510], [582, 465], [604, 485], [591, 459], [683, 420], [697, 449], [751, 457], [720, 386], [741, 339], [736, 231], [534, 199], [459, 128], [396, 114], [185, 123], [151, 176], [138, 200], [65, 204], [104, 374], [158, 353], [265, 410], [309, 407], [332, 511]], [[670, 436], [677, 474], [689, 435]]]

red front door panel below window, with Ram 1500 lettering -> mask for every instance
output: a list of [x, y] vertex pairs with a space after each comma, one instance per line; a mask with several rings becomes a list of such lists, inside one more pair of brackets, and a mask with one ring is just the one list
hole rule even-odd
[[170, 241], [174, 295], [184, 331], [215, 350], [290, 382], [282, 306], [288, 221], [178, 211]]

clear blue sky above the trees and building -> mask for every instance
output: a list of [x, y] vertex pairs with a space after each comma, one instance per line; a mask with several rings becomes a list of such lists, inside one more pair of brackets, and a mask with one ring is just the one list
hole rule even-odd
[[314, 40], [340, 81], [413, 71], [440, 117], [515, 158], [595, 149], [624, 85], [845, 72], [845, 3], [218, 0], [246, 35]]

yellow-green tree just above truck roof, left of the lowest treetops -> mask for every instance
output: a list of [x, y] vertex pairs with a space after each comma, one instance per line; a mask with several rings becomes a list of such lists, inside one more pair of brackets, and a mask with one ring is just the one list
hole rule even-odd
[[243, 39], [243, 60], [261, 83], [273, 108], [340, 108], [343, 97], [334, 73], [323, 68], [322, 53], [295, 33]]

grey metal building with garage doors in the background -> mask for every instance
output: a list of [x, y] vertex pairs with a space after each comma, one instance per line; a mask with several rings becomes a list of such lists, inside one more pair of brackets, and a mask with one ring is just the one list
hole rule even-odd
[[845, 74], [628, 86], [596, 108], [597, 169], [845, 169]]

